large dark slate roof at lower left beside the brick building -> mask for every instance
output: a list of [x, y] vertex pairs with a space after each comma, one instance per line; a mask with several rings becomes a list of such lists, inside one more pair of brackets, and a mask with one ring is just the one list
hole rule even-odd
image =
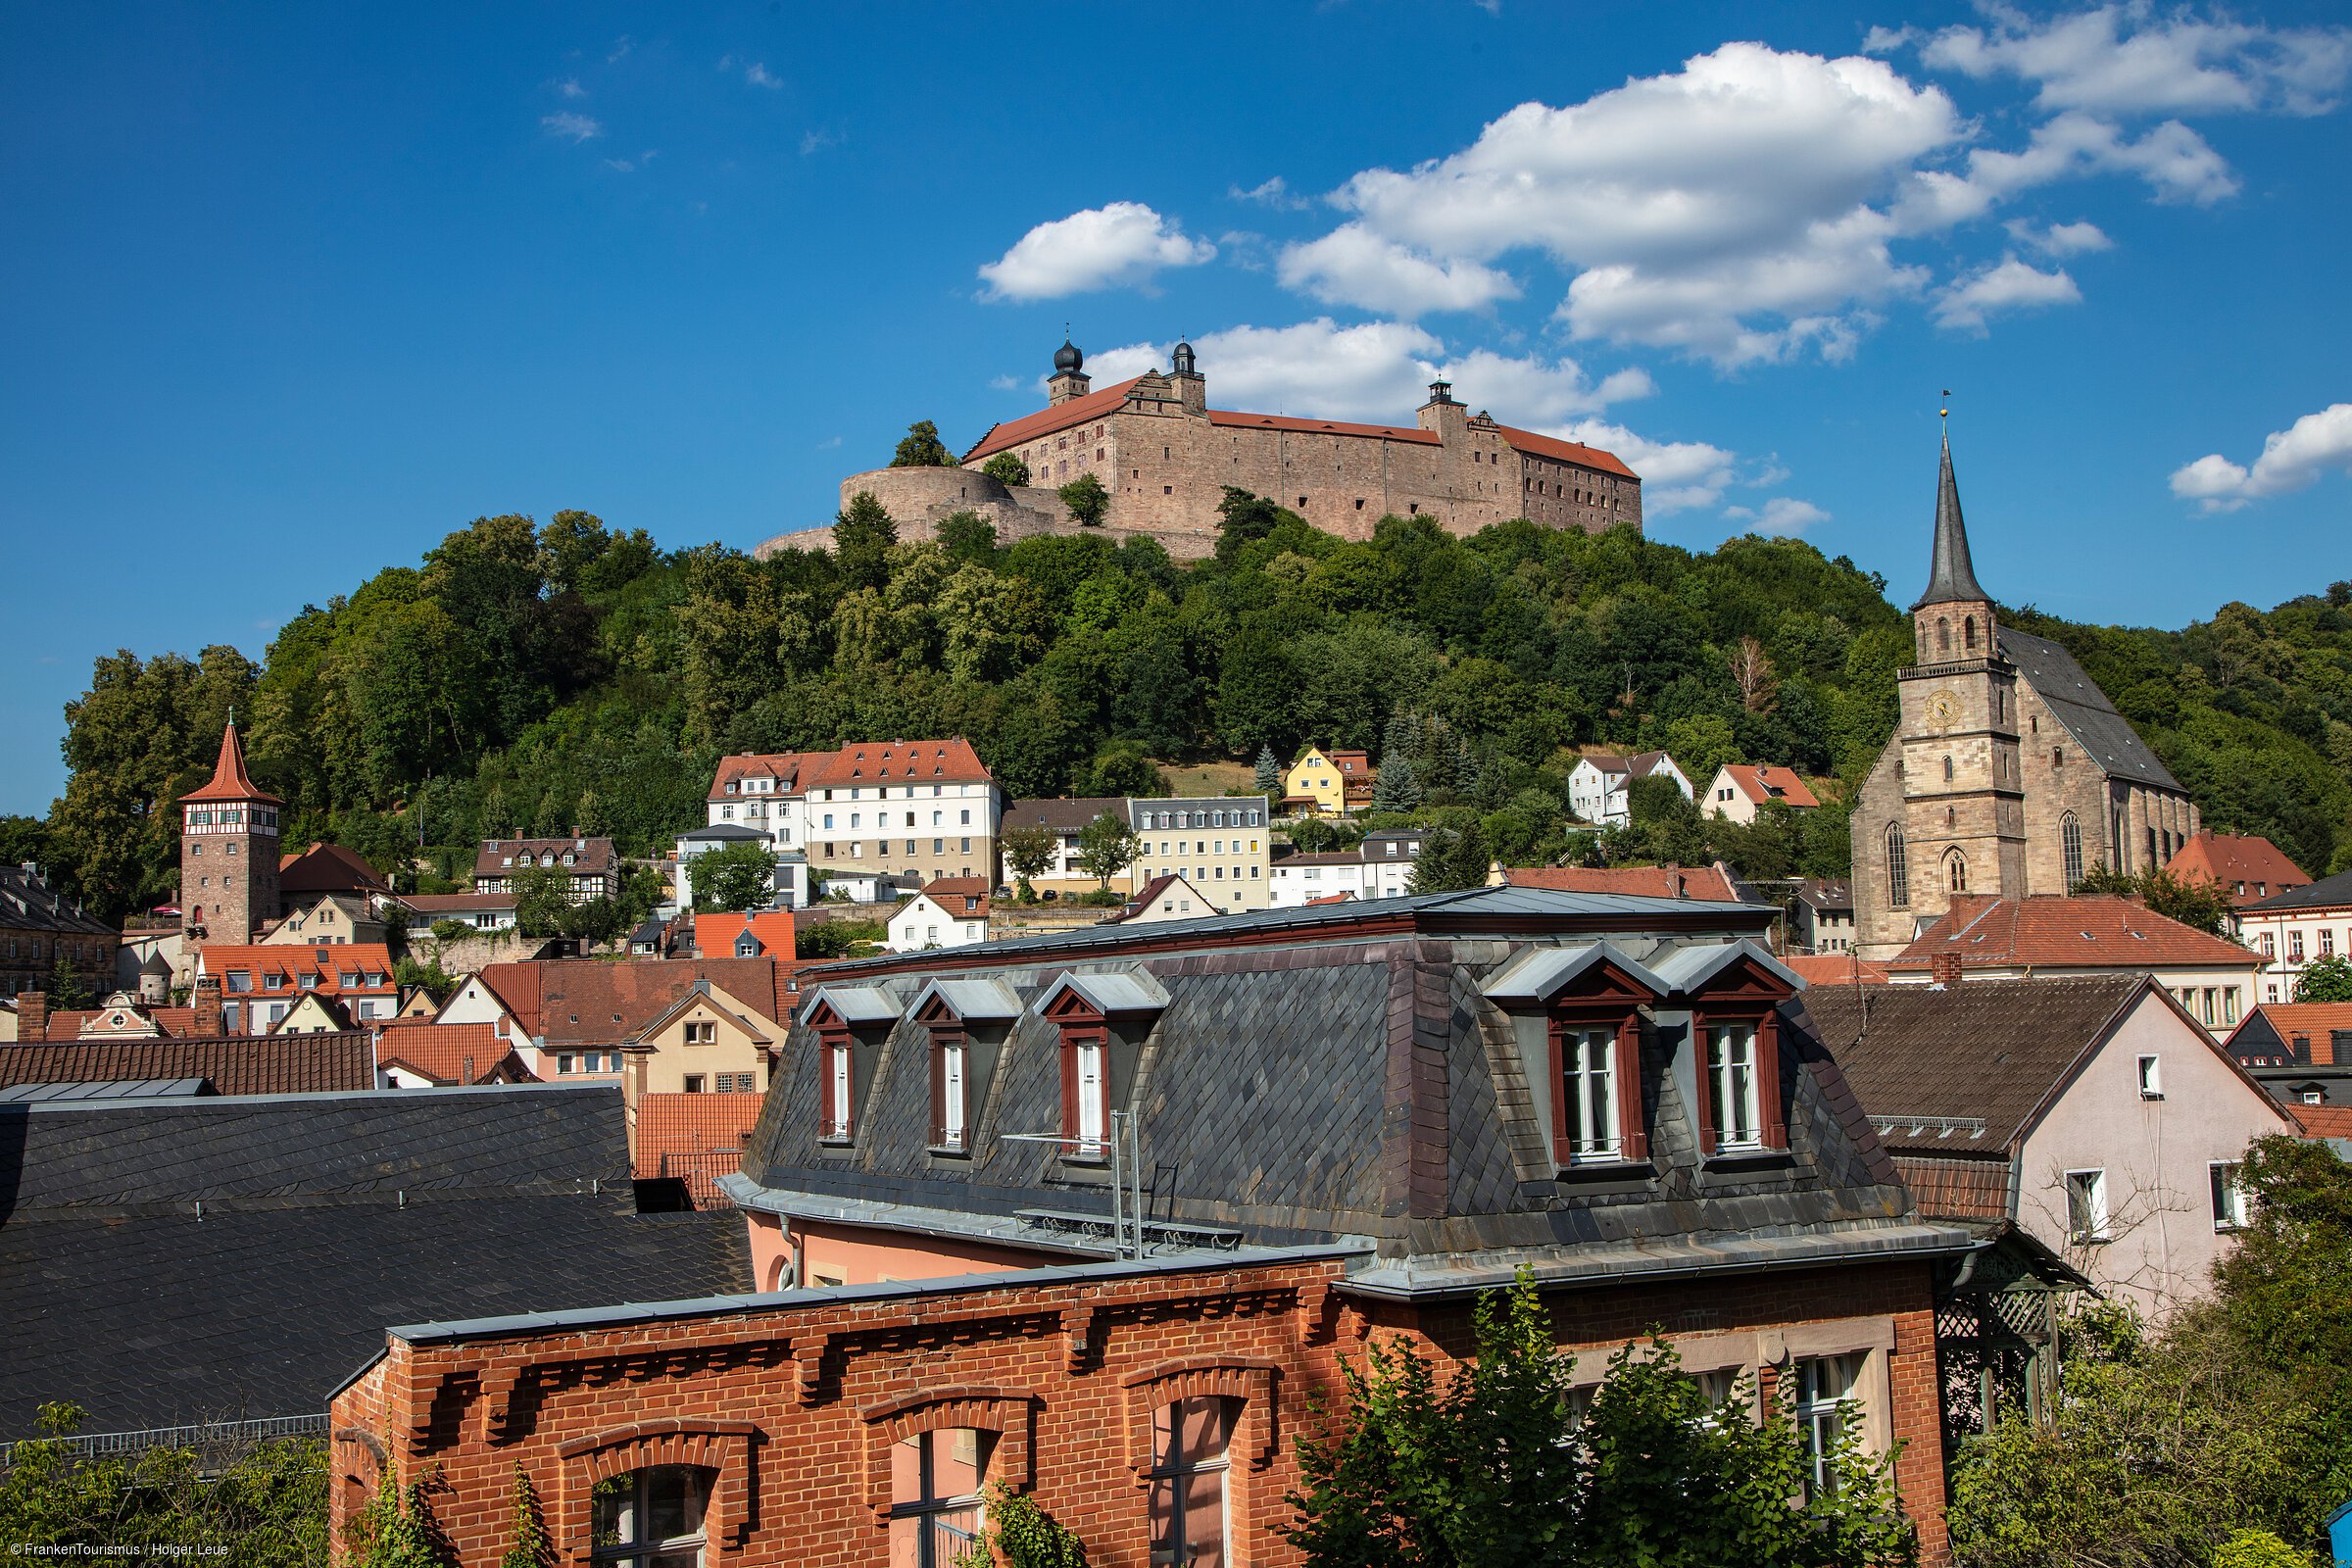
[[750, 1286], [741, 1218], [633, 1213], [612, 1086], [7, 1105], [0, 1171], [0, 1439], [313, 1413], [386, 1324]]

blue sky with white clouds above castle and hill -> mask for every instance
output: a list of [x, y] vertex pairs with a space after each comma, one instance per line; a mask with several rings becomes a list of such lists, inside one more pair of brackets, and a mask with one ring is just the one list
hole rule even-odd
[[2352, 574], [2347, 75], [2333, 5], [7, 7], [0, 811], [99, 654], [485, 512], [826, 522], [1065, 322], [1218, 407], [1444, 369], [1898, 597], [1952, 388], [1994, 592], [2272, 604]]

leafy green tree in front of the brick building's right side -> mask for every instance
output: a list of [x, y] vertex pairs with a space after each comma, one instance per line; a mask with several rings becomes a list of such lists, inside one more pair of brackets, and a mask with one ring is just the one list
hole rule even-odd
[[[1341, 1361], [1348, 1413], [1298, 1443], [1305, 1488], [1287, 1537], [1315, 1568], [1865, 1568], [1917, 1563], [1896, 1512], [1893, 1460], [1849, 1420], [1809, 1488], [1785, 1415], [1752, 1420], [1686, 1378], [1670, 1345], [1625, 1345], [1578, 1422], [1573, 1359], [1522, 1272], [1472, 1309], [1451, 1378], [1409, 1340]], [[1736, 1413], [1733, 1413], [1736, 1410]]]

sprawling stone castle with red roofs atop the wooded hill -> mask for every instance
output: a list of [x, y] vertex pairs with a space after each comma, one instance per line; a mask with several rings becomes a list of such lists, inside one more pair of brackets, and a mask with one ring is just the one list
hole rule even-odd
[[[1390, 512], [1437, 517], [1451, 534], [1512, 517], [1588, 534], [1642, 527], [1642, 480], [1613, 454], [1472, 414], [1446, 381], [1430, 383], [1416, 423], [1357, 425], [1211, 409], [1190, 343], [1176, 346], [1167, 371], [1103, 390], [1094, 390], [1084, 364], [1077, 346], [1063, 343], [1044, 409], [993, 425], [957, 468], [854, 473], [842, 480], [842, 505], [870, 491], [908, 543], [931, 538], [950, 512], [978, 512], [1009, 543], [1075, 534], [1056, 491], [1091, 473], [1110, 491], [1105, 536], [1157, 538], [1181, 559], [1216, 548], [1216, 505], [1228, 484], [1341, 538], [1371, 538]], [[1030, 482], [981, 473], [1000, 454], [1018, 458]], [[783, 534], [757, 552], [826, 548], [830, 534]]]

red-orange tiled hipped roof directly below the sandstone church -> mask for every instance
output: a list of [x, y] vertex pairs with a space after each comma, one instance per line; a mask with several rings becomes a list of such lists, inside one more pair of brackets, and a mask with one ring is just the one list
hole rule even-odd
[[1886, 959], [1891, 971], [1929, 969], [1938, 954], [1959, 954], [1962, 966], [2100, 966], [2147, 969], [2152, 964], [2260, 964], [2237, 943], [2164, 919], [2136, 898], [1992, 898], [1962, 893], [1952, 910], [1919, 933], [1910, 947]]

